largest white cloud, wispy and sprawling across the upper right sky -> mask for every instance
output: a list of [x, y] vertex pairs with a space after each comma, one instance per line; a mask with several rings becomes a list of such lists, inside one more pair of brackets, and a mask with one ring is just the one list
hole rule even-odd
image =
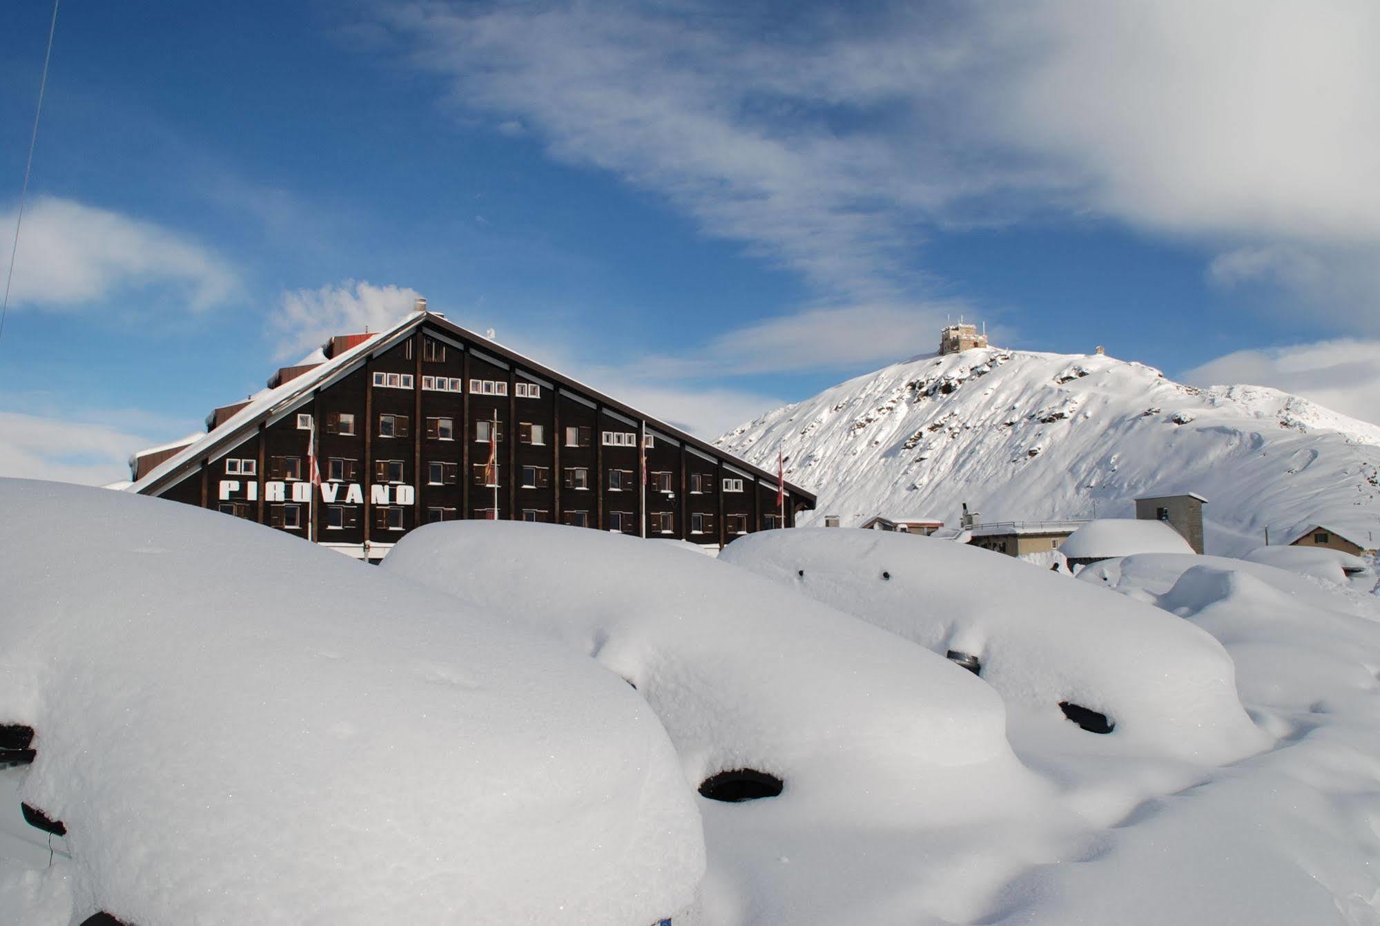
[[1272, 284], [1361, 294], [1380, 330], [1370, 0], [382, 15], [451, 80], [455, 110], [520, 121], [552, 156], [665, 196], [831, 299], [923, 295], [936, 228], [1053, 208], [1230, 251], [1227, 265], [1307, 253], [1332, 272]]

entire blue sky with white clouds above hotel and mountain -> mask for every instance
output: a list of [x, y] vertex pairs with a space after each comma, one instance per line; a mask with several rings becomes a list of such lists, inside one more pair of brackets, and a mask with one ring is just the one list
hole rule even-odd
[[[0, 12], [7, 246], [50, 12]], [[116, 479], [417, 293], [707, 436], [959, 313], [1380, 421], [1377, 39], [1363, 0], [66, 0], [0, 473]]]

